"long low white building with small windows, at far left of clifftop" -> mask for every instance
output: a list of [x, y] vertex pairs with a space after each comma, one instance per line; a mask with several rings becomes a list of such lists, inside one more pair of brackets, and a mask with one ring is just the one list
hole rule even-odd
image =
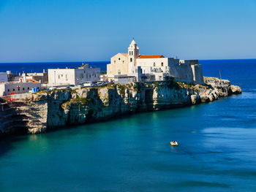
[[39, 82], [1, 82], [0, 83], [0, 96], [9, 95], [10, 93], [29, 93], [32, 88], [41, 88]]

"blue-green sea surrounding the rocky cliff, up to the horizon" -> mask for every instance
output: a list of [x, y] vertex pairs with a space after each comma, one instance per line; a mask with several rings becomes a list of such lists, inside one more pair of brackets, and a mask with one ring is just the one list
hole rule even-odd
[[[0, 191], [256, 191], [256, 60], [199, 63], [205, 76], [221, 74], [243, 93], [1, 138]], [[0, 64], [0, 72], [76, 65]]]

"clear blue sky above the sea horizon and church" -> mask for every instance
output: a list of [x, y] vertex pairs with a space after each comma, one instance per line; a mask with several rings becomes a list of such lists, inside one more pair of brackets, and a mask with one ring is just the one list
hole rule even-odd
[[0, 62], [256, 58], [256, 0], [0, 0]]

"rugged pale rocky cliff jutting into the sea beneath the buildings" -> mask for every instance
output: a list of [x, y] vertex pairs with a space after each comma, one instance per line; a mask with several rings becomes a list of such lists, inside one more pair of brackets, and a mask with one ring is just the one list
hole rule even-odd
[[[20, 129], [37, 134], [50, 128], [78, 125], [108, 120], [121, 115], [183, 107], [214, 101], [221, 96], [241, 93], [241, 88], [228, 80], [205, 78], [206, 85], [189, 85], [175, 80], [151, 83], [108, 84], [100, 88], [79, 88], [72, 91], [42, 91], [22, 99], [3, 102], [4, 109], [12, 110], [24, 126], [5, 126], [1, 118], [0, 134], [14, 133]], [[4, 117], [4, 111], [0, 115]], [[14, 117], [13, 116], [13, 117]], [[8, 118], [10, 120], [10, 118]], [[20, 124], [12, 118], [14, 123]], [[16, 122], [16, 123], [15, 123]]]

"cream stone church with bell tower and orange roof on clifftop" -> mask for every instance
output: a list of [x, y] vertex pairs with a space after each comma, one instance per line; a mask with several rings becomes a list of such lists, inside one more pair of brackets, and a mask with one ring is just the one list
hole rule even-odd
[[164, 55], [140, 55], [134, 39], [127, 53], [117, 53], [107, 65], [109, 81], [152, 82], [174, 77], [178, 81], [204, 84], [203, 69], [198, 60], [166, 58]]

